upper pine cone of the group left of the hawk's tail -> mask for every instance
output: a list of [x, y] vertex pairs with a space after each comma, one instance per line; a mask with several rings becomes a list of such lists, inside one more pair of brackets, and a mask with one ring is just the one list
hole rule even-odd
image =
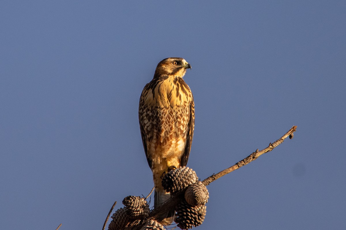
[[122, 200], [125, 205], [125, 213], [131, 219], [145, 219], [149, 216], [149, 204], [144, 198], [128, 196]]

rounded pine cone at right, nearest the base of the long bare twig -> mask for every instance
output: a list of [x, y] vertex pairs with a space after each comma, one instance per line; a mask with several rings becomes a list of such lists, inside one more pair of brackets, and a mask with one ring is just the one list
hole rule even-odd
[[191, 206], [204, 205], [208, 202], [208, 199], [208, 189], [201, 181], [189, 185], [185, 191], [185, 200]]

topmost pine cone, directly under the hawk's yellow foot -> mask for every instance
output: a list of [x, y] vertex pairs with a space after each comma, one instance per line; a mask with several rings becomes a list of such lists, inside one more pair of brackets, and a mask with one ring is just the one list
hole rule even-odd
[[177, 194], [182, 191], [190, 184], [197, 182], [198, 177], [196, 172], [189, 167], [180, 167], [172, 169], [162, 178], [162, 186], [167, 192]]

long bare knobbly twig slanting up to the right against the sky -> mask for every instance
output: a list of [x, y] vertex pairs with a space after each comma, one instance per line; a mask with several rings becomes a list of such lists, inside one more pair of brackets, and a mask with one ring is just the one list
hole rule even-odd
[[[234, 166], [231, 166], [225, 170], [222, 170], [219, 173], [216, 173], [210, 177], [208, 177], [207, 179], [203, 180], [202, 183], [207, 186], [208, 184], [210, 184], [211, 182], [215, 181], [216, 179], [225, 176], [226, 174], [233, 172], [236, 169], [239, 169], [240, 167], [244, 166], [245, 164], [250, 163], [251, 161], [256, 160], [259, 156], [261, 156], [262, 154], [266, 153], [266, 152], [270, 152], [272, 151], [276, 146], [278, 146], [279, 144], [281, 144], [284, 139], [286, 139], [287, 137], [290, 137], [290, 139], [293, 138], [293, 132], [295, 132], [295, 130], [297, 130], [297, 126], [293, 126], [288, 132], [286, 132], [285, 135], [283, 135], [279, 140], [276, 140], [274, 143], [270, 143], [269, 146], [261, 151], [258, 151], [258, 149], [253, 152], [250, 156], [248, 156], [247, 158], [239, 161], [238, 163], [236, 163]], [[292, 138], [291, 138], [292, 137]]]

